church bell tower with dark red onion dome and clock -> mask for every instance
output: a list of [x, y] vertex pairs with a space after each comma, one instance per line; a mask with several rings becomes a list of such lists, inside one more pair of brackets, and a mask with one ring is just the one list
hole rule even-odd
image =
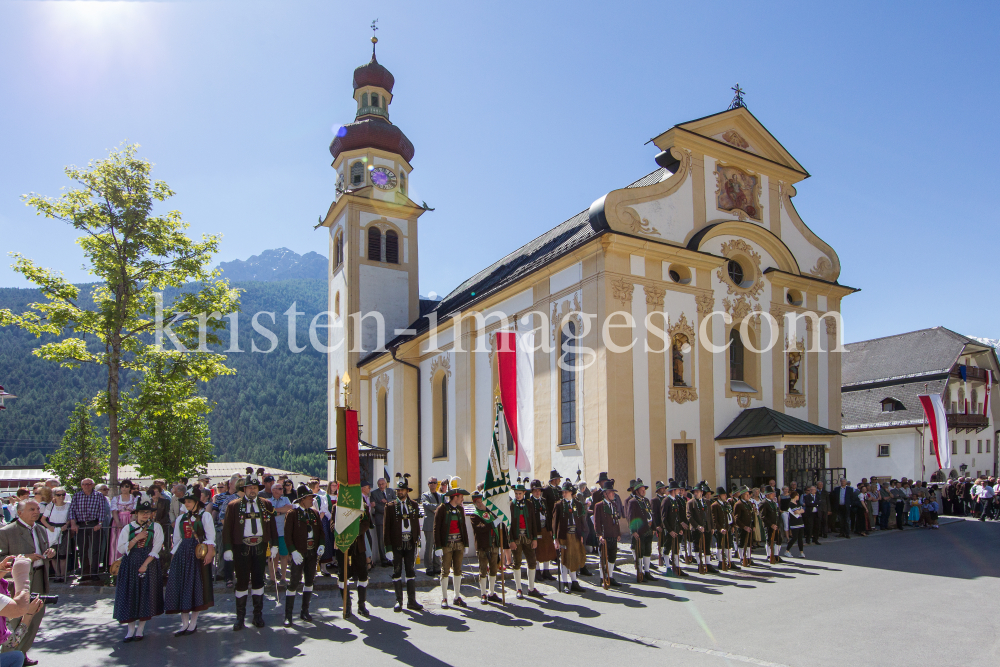
[[[320, 224], [329, 230], [329, 415], [343, 405], [349, 373], [352, 407], [366, 395], [358, 362], [401, 335], [420, 315], [418, 218], [410, 199], [413, 144], [389, 120], [395, 79], [375, 58], [354, 70], [354, 121], [330, 144], [336, 186]], [[399, 403], [402, 405], [402, 402]], [[328, 425], [330, 444], [336, 428]]]

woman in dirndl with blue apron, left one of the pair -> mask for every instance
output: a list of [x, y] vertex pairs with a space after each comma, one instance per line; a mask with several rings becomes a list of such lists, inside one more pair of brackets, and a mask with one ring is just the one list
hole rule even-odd
[[146, 621], [163, 613], [163, 529], [153, 522], [154, 511], [153, 503], [143, 497], [135, 506], [135, 519], [122, 526], [115, 543], [121, 561], [115, 578], [114, 618], [128, 625], [125, 643], [142, 641]]

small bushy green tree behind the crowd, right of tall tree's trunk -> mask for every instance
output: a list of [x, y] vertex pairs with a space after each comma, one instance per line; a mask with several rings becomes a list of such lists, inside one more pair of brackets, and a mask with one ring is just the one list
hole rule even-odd
[[124, 447], [124, 460], [142, 477], [176, 480], [193, 477], [212, 460], [212, 439], [205, 419], [211, 406], [195, 393], [195, 381], [166, 379], [164, 360], [153, 362], [123, 412], [145, 406], [136, 418], [135, 440]]

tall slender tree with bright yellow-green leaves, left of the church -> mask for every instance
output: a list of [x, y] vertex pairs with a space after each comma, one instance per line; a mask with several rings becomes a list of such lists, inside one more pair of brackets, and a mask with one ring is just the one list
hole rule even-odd
[[[123, 144], [86, 169], [67, 167], [66, 175], [80, 187], [58, 199], [23, 196], [38, 215], [82, 232], [77, 243], [100, 281], [90, 299], [81, 299], [79, 289], [61, 274], [12, 253], [14, 270], [38, 286], [47, 301], [32, 303], [32, 310], [21, 314], [0, 310], [0, 326], [18, 326], [35, 336], [61, 335], [65, 328], [75, 334], [42, 344], [33, 351], [38, 357], [68, 368], [97, 364], [106, 369], [106, 388], [92, 405], [108, 416], [112, 484], [117, 483], [120, 445], [137, 438], [138, 419], [149, 408], [140, 394], [122, 419], [123, 371], [144, 374], [161, 360], [168, 388], [188, 378], [208, 381], [233, 373], [224, 355], [208, 346], [221, 343], [222, 314], [239, 309], [239, 290], [218, 280], [218, 270], [208, 269], [219, 237], [193, 241], [184, 233], [188, 225], [179, 211], [154, 214], [154, 206], [174, 192], [152, 179], [152, 163], [137, 157], [137, 150], [138, 144]], [[162, 291], [168, 287], [183, 289], [173, 303], [164, 304]], [[174, 349], [162, 346], [164, 335]], [[96, 344], [88, 346], [88, 337]]]

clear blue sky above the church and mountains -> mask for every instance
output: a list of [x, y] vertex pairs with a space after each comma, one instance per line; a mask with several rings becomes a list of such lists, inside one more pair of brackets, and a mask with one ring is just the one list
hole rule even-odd
[[[655, 168], [645, 142], [747, 106], [812, 174], [796, 207], [840, 255], [848, 341], [1000, 336], [991, 160], [997, 3], [0, 2], [0, 252], [87, 280], [19, 196], [142, 144], [219, 260], [327, 252], [328, 146], [351, 74], [396, 77], [416, 147], [422, 293]], [[989, 185], [989, 183], [994, 185]], [[993, 192], [994, 195], [989, 193]], [[26, 286], [0, 261], [0, 286]]]

